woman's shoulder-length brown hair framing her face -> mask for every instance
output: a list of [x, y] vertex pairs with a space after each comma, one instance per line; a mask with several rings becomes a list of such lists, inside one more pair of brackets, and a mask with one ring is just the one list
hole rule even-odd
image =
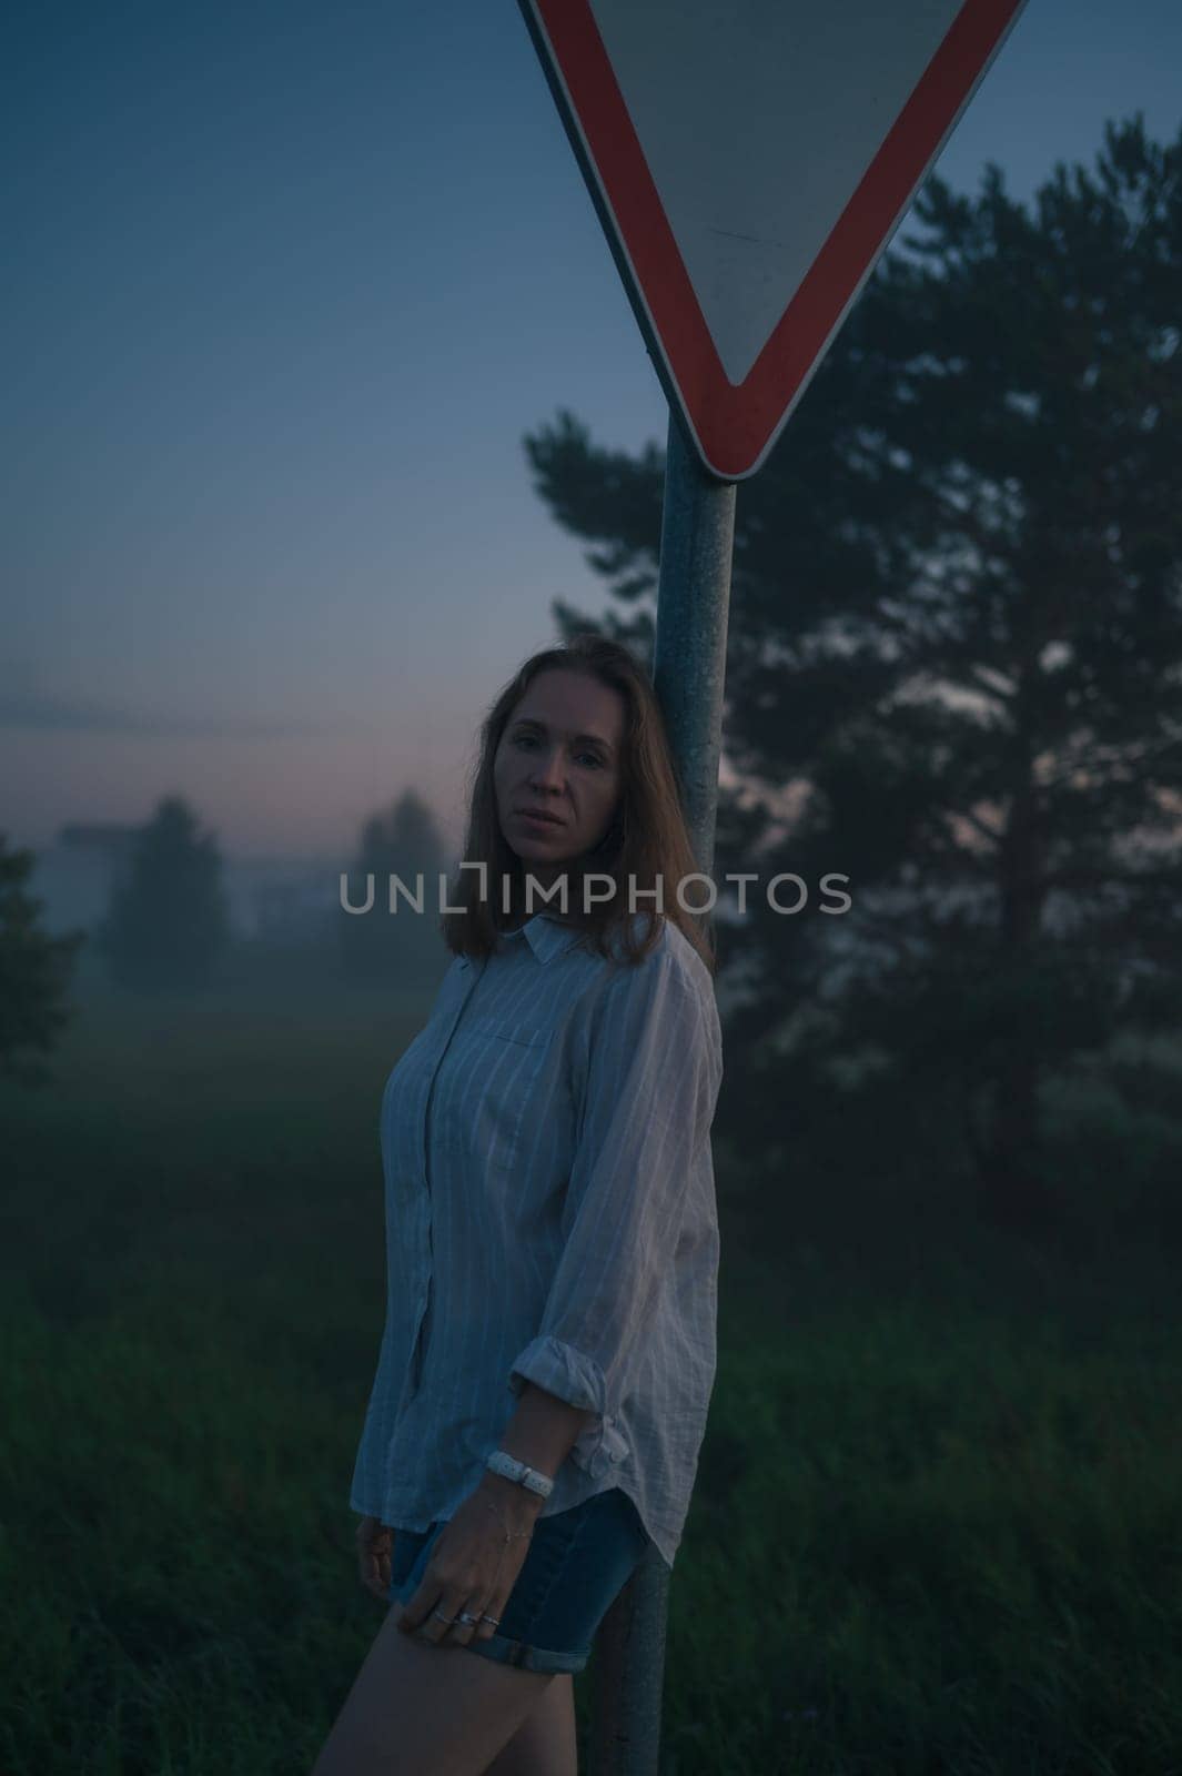
[[[481, 899], [481, 870], [456, 868], [447, 890], [447, 904], [460, 908], [440, 915], [444, 941], [454, 955], [492, 955], [499, 934], [525, 911], [527, 868], [509, 847], [497, 819], [493, 758], [513, 710], [540, 671], [559, 668], [580, 671], [618, 691], [625, 702], [621, 783], [616, 813], [600, 844], [582, 858], [568, 860], [568, 924], [582, 927], [582, 940], [600, 955], [616, 947], [635, 964], [657, 945], [662, 913], [653, 895], [641, 892], [664, 884], [664, 918], [671, 920], [694, 945], [710, 973], [715, 971], [715, 943], [708, 913], [687, 913], [678, 904], [676, 884], [697, 872], [697, 861], [685, 828], [682, 797], [669, 751], [666, 723], [651, 680], [639, 661], [619, 641], [580, 634], [563, 646], [543, 648], [518, 668], [497, 696], [481, 726], [479, 760], [469, 789], [469, 824], [463, 844], [465, 863], [485, 863], [488, 895]], [[611, 899], [584, 909], [582, 876], [602, 872], [616, 883]], [[648, 916], [648, 929], [637, 940], [634, 915], [628, 913], [628, 877], [635, 877], [637, 911]], [[502, 911], [500, 883], [509, 881], [509, 911]], [[495, 884], [495, 886], [493, 886]], [[690, 899], [690, 893], [687, 893]], [[575, 902], [571, 906], [571, 902]], [[545, 909], [545, 902], [543, 902]], [[538, 897], [534, 895], [534, 911]]]

